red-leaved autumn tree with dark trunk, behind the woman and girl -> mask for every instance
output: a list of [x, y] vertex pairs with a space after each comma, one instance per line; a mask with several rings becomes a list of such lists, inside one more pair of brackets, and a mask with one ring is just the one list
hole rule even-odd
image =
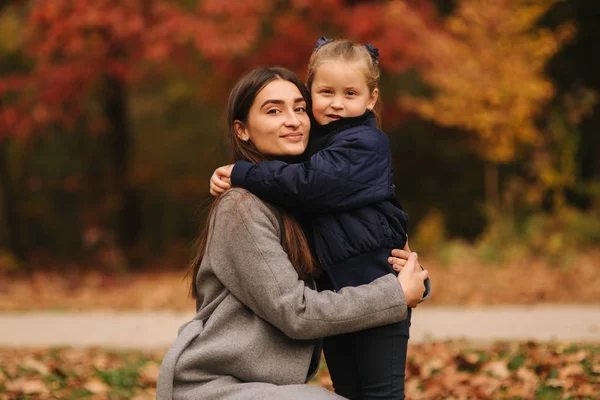
[[[372, 42], [381, 49], [382, 68], [395, 74], [414, 66], [420, 56], [406, 15], [425, 21], [428, 29], [438, 24], [430, 1], [411, 2], [403, 15], [390, 13], [396, 2], [354, 0], [20, 4], [24, 18], [18, 51], [27, 67], [0, 73], [0, 141], [6, 145], [8, 140], [27, 141], [48, 132], [102, 138], [110, 168], [99, 173], [110, 175], [102, 178], [110, 186], [99, 183], [98, 172], [77, 179], [108, 199], [118, 224], [118, 243], [126, 248], [137, 242], [140, 232], [139, 193], [131, 179], [129, 100], [134, 85], [173, 70], [194, 75], [204, 68], [210, 79], [201, 90], [224, 101], [223, 88], [257, 65], [283, 65], [303, 76], [321, 35]], [[97, 219], [84, 222], [83, 228], [107, 224]]]

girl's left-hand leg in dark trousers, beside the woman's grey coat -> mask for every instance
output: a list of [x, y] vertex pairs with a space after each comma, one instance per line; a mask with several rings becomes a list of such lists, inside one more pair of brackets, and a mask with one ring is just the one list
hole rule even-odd
[[346, 333], [323, 339], [323, 354], [335, 393], [348, 399], [358, 398], [353, 335], [355, 333]]

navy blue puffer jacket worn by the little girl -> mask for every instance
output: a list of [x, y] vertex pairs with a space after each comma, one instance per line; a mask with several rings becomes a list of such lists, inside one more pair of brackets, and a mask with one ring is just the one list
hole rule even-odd
[[313, 127], [311, 135], [307, 161], [238, 161], [232, 185], [308, 215], [335, 289], [393, 273], [387, 259], [404, 247], [408, 217], [394, 194], [387, 136], [371, 112]]

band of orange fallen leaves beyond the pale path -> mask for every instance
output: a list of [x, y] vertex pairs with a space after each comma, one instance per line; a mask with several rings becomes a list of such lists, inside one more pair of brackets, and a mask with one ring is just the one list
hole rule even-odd
[[[580, 255], [570, 267], [548, 266], [539, 260], [494, 266], [467, 261], [444, 266], [423, 259], [434, 290], [427, 305], [597, 304], [600, 300], [598, 251]], [[188, 296], [189, 280], [185, 271], [173, 270], [173, 264], [184, 262], [159, 260], [152, 270], [135, 273], [66, 266], [62, 272], [48, 268], [28, 276], [0, 277], [0, 311], [190, 311], [194, 302]]]

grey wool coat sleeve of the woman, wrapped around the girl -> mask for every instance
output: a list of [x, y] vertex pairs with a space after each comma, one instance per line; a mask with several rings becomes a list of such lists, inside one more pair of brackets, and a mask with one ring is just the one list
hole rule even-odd
[[273, 211], [240, 189], [223, 196], [205, 257], [238, 300], [287, 336], [313, 339], [406, 318], [404, 292], [392, 274], [337, 293], [307, 287], [280, 244]]

